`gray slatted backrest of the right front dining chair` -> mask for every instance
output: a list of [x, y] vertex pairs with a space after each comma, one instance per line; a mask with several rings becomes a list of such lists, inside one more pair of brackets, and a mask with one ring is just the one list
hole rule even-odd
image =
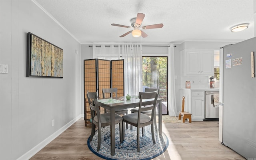
[[[138, 122], [140, 122], [140, 112], [152, 110], [151, 112], [151, 120], [154, 119], [155, 109], [156, 109], [156, 101], [158, 98], [158, 91], [155, 92], [139, 92], [139, 98], [140, 98], [140, 104], [139, 104], [139, 110], [138, 110]], [[154, 99], [150, 101], [147, 106], [142, 107], [142, 100], [149, 100]]]

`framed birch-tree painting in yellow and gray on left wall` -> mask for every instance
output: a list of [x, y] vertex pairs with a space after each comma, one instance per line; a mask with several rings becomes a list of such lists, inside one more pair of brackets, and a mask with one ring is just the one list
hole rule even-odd
[[63, 50], [28, 32], [26, 76], [63, 78]]

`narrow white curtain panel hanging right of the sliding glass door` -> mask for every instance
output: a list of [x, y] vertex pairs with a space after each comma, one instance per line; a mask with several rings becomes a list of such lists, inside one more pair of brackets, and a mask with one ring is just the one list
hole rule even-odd
[[174, 73], [174, 46], [170, 44], [168, 48], [168, 111], [169, 116], [177, 116], [177, 107], [176, 107], [176, 93], [175, 93], [175, 73]]

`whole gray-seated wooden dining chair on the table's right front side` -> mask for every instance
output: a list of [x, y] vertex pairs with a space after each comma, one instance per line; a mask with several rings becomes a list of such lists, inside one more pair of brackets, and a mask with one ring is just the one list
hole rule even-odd
[[[126, 114], [123, 116], [123, 121], [137, 127], [137, 148], [138, 152], [140, 152], [140, 128], [143, 128], [145, 126], [151, 125], [151, 135], [152, 135], [152, 141], [155, 144], [155, 137], [154, 137], [154, 114], [156, 109], [156, 102], [158, 98], [157, 92], [139, 92], [139, 98], [140, 98], [140, 104], [139, 104], [139, 110], [136, 113]], [[154, 100], [149, 101], [149, 104], [145, 107], [142, 107], [142, 100], [152, 99]], [[143, 114], [142, 112], [152, 110], [151, 117]], [[123, 133], [124, 134], [124, 133]]]

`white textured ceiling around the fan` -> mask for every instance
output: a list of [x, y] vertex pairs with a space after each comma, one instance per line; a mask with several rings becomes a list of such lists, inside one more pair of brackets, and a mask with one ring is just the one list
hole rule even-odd
[[[81, 44], [94, 42], [181, 43], [183, 41], [242, 41], [254, 37], [253, 0], [32, 0], [58, 21]], [[133, 38], [130, 26], [137, 13], [148, 37]], [[242, 32], [236, 24], [250, 23]]]

